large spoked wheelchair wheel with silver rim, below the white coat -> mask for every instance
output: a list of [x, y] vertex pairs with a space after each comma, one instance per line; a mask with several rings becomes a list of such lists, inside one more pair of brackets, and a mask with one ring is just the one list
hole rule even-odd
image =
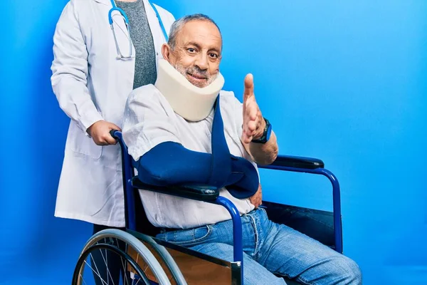
[[[137, 254], [136, 260], [130, 251]], [[120, 272], [108, 268], [107, 264], [111, 264], [112, 259]], [[146, 264], [143, 269], [138, 259], [143, 259]], [[105, 229], [94, 234], [85, 244], [75, 266], [72, 284], [93, 284], [94, 279], [96, 285], [153, 284], [147, 272], [155, 277], [158, 284], [171, 285], [159, 261], [139, 239], [120, 229]]]

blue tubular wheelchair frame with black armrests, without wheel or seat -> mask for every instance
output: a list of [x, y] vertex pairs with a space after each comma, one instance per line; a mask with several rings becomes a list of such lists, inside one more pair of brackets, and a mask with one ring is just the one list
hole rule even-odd
[[[126, 231], [130, 232], [130, 234], [139, 236], [136, 231], [137, 225], [135, 217], [135, 192], [139, 189], [220, 204], [221, 206], [226, 207], [228, 212], [231, 214], [234, 240], [233, 264], [238, 266], [238, 269], [240, 269], [238, 281], [240, 281], [240, 284], [243, 284], [242, 226], [241, 217], [236, 206], [230, 200], [219, 196], [218, 190], [211, 187], [157, 187], [153, 185], [145, 185], [135, 177], [135, 172], [132, 167], [132, 157], [127, 152], [127, 146], [122, 138], [122, 133], [117, 130], [112, 130], [110, 134], [119, 142], [122, 150], [122, 179], [125, 195]], [[270, 170], [285, 170], [290, 172], [305, 172], [315, 175], [323, 175], [330, 180], [333, 189], [334, 250], [342, 253], [342, 217], [339, 182], [332, 172], [325, 169], [325, 164], [322, 160], [311, 157], [279, 155], [271, 165], [259, 165], [258, 167]]]

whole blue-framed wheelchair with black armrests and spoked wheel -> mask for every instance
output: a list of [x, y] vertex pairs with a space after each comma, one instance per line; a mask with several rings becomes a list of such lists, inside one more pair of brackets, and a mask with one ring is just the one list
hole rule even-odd
[[[112, 130], [110, 134], [119, 142], [121, 147], [125, 230], [104, 229], [88, 239], [75, 266], [72, 284], [93, 284], [93, 279], [97, 277], [100, 279], [97, 284], [119, 284], [117, 280], [113, 280], [107, 267], [107, 252], [115, 254], [116, 260], [120, 258], [118, 265], [121, 268], [120, 281], [123, 285], [243, 284], [241, 217], [234, 204], [221, 197], [219, 190], [214, 187], [204, 185], [158, 187], [144, 184], [135, 176], [132, 157], [127, 152], [122, 133]], [[339, 182], [332, 172], [325, 169], [322, 160], [279, 155], [273, 164], [259, 167], [269, 170], [323, 175], [330, 180], [333, 192], [333, 212], [267, 201], [263, 201], [262, 207], [266, 209], [269, 219], [273, 222], [286, 224], [297, 229], [342, 254]], [[149, 223], [139, 199], [139, 190], [154, 191], [226, 207], [233, 222], [233, 261], [210, 257], [186, 247], [157, 239], [156, 234], [160, 232], [160, 229]], [[308, 214], [315, 215], [316, 220], [320, 221], [321, 219], [322, 222], [313, 223], [314, 219], [307, 218]], [[325, 227], [327, 224], [330, 227]], [[94, 254], [101, 254], [101, 260], [104, 262], [97, 264], [93, 257]], [[285, 279], [285, 281], [287, 284], [298, 284], [289, 279]]]

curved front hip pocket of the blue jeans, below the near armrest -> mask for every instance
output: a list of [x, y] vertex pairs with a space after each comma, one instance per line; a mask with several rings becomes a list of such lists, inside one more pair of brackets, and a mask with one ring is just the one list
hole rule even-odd
[[196, 227], [195, 229], [184, 229], [166, 233], [166, 241], [179, 244], [184, 247], [193, 247], [196, 244], [206, 241], [211, 235], [210, 225]]

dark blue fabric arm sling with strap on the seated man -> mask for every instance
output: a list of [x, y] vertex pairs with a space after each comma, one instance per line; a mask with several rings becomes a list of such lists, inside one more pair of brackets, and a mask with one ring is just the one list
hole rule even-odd
[[133, 161], [139, 180], [157, 186], [199, 184], [226, 187], [238, 199], [255, 194], [259, 185], [258, 172], [245, 158], [230, 154], [219, 98], [218, 95], [214, 106], [212, 154], [188, 150], [176, 142], [162, 142]]

